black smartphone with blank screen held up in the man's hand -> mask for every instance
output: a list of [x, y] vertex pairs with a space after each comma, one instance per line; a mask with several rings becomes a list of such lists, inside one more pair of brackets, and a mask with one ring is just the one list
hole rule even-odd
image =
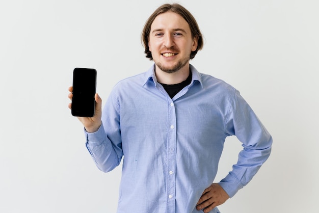
[[95, 69], [75, 68], [73, 70], [73, 98], [71, 114], [76, 117], [93, 117], [95, 114]]

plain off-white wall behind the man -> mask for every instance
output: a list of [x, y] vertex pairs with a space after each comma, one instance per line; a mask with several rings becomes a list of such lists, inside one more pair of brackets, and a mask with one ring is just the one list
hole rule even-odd
[[[116, 211], [121, 166], [95, 167], [67, 89], [73, 68], [95, 68], [104, 102], [120, 79], [146, 71], [141, 31], [164, 3], [1, 1], [0, 212]], [[191, 64], [238, 89], [274, 139], [269, 160], [220, 210], [318, 212], [318, 1], [178, 3], [205, 38]], [[216, 181], [240, 149], [227, 139]]]

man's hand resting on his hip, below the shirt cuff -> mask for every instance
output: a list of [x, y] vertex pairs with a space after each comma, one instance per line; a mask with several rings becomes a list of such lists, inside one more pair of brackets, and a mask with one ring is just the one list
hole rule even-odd
[[197, 210], [203, 209], [204, 212], [209, 212], [216, 206], [225, 203], [228, 198], [228, 194], [220, 184], [212, 183], [197, 202]]

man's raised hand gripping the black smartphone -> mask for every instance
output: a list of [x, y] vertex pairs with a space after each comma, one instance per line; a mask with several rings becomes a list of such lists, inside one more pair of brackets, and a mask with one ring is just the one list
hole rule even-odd
[[[70, 100], [73, 98], [73, 87], [69, 87], [69, 95], [68, 97]], [[87, 132], [95, 132], [98, 130], [98, 128], [101, 126], [102, 121], [101, 121], [101, 116], [102, 116], [102, 99], [100, 96], [96, 93], [95, 94], [95, 114], [94, 117], [89, 118], [89, 117], [77, 117], [79, 121], [84, 125], [84, 128], [86, 129]], [[69, 103], [68, 105], [69, 109], [72, 108], [72, 103]]]

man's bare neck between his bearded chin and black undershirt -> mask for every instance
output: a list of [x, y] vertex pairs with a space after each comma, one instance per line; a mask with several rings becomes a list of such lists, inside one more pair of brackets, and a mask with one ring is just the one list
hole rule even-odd
[[172, 84], [179, 84], [187, 79], [190, 74], [190, 66], [184, 66], [182, 69], [173, 72], [167, 73], [159, 69], [155, 65], [155, 76], [157, 78], [158, 83], [172, 85]]

